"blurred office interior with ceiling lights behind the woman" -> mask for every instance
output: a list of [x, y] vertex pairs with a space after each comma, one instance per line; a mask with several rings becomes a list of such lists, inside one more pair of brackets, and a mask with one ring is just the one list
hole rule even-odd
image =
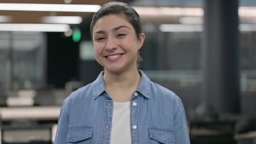
[[[53, 143], [62, 101], [103, 70], [89, 27], [108, 1], [0, 1], [0, 144]], [[120, 1], [141, 16], [140, 69], [181, 98], [191, 144], [256, 144], [256, 1]]]

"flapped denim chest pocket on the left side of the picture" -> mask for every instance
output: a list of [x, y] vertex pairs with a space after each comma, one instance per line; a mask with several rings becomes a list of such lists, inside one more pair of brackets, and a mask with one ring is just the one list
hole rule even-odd
[[91, 144], [92, 131], [91, 125], [70, 125], [66, 142], [67, 144]]

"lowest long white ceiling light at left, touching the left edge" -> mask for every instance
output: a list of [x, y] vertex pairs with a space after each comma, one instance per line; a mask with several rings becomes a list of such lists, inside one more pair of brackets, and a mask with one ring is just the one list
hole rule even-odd
[[0, 23], [0, 31], [25, 31], [25, 32], [66, 32], [68, 24], [23, 24]]

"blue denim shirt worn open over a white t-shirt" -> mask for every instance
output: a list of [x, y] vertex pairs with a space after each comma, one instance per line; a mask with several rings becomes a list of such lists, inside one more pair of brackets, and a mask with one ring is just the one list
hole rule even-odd
[[[181, 99], [138, 72], [141, 81], [131, 98], [131, 143], [190, 144]], [[103, 74], [63, 101], [55, 144], [109, 144], [113, 100]]]

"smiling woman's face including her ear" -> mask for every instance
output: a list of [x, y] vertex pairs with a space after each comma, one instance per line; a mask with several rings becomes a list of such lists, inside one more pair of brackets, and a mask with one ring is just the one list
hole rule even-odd
[[120, 73], [137, 69], [137, 52], [144, 42], [138, 39], [135, 29], [123, 16], [102, 16], [92, 29], [95, 59], [105, 71]]

